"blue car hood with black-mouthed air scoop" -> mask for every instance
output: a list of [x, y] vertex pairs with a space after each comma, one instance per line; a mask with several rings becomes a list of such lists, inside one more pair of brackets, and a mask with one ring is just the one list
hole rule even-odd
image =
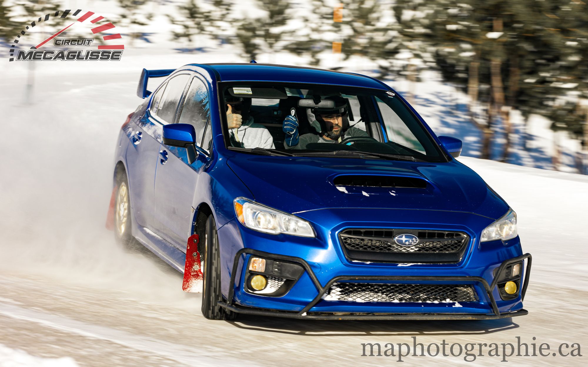
[[402, 208], [464, 211], [497, 219], [508, 210], [480, 176], [455, 160], [428, 163], [242, 153], [230, 157], [228, 166], [252, 191], [253, 200], [288, 213]]

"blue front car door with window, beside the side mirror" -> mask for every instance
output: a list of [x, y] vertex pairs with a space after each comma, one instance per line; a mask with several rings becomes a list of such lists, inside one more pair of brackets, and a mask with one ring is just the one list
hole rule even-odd
[[185, 148], [162, 144], [168, 154], [155, 175], [155, 220], [159, 235], [185, 250], [192, 231], [192, 201], [199, 173], [208, 161], [208, 149], [202, 148], [206, 124], [210, 119], [210, 96], [205, 81], [192, 78], [186, 97], [178, 109], [178, 123], [188, 123], [196, 130], [198, 157], [188, 164]]

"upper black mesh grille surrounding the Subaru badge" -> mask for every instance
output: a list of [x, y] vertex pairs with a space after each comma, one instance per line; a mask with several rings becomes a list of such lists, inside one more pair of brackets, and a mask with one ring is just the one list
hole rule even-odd
[[[414, 245], [399, 245], [394, 237], [413, 234], [419, 238]], [[457, 262], [469, 240], [462, 232], [349, 229], [339, 234], [340, 243], [350, 260], [382, 262]]]

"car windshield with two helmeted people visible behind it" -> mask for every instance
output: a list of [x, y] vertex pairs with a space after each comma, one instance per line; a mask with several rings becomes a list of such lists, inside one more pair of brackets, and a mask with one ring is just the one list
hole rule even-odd
[[338, 85], [221, 83], [229, 149], [288, 156], [446, 161], [390, 91]]

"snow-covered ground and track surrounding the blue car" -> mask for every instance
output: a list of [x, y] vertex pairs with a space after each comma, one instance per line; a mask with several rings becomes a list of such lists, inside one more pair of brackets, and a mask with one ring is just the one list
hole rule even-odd
[[[529, 315], [473, 322], [204, 319], [200, 295], [182, 292], [179, 273], [148, 252], [123, 252], [105, 230], [113, 145], [139, 103], [142, 68], [235, 59], [228, 46], [185, 54], [146, 45], [125, 50], [121, 62], [97, 62], [92, 69], [83, 62], [39, 62], [28, 96], [26, 63], [2, 63], [0, 367], [367, 366], [396, 359], [362, 357], [361, 343], [412, 345], [412, 336], [425, 345], [443, 339], [516, 345], [520, 336], [529, 345], [586, 348], [588, 176], [473, 157], [460, 160], [517, 212], [523, 250], [533, 254], [524, 302]], [[275, 62], [302, 61], [275, 55]], [[415, 105], [438, 133], [460, 137], [461, 125], [444, 123], [443, 117], [435, 122], [435, 116], [452, 113], [447, 103], [438, 103], [417, 98]], [[476, 142], [464, 140], [467, 152], [467, 144]], [[571, 356], [507, 359], [528, 366], [586, 365], [585, 358]], [[475, 362], [463, 356], [404, 360], [415, 366], [500, 364], [489, 356]]]

